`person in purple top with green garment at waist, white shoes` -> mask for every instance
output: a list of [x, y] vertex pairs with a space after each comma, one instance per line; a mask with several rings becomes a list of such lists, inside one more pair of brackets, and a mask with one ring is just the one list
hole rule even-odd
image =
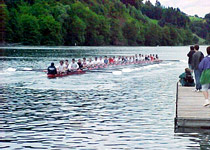
[[210, 46], [207, 47], [207, 56], [199, 64], [199, 69], [202, 71], [200, 83], [202, 84], [202, 91], [205, 98], [204, 106], [210, 105], [208, 89], [210, 87]]

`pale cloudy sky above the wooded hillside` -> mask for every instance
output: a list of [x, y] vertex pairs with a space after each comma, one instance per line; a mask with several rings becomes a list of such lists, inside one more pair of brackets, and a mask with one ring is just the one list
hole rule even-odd
[[[150, 0], [150, 2], [155, 4], [156, 0]], [[179, 8], [182, 12], [191, 16], [204, 17], [210, 13], [210, 0], [159, 0], [159, 2], [165, 7]]]

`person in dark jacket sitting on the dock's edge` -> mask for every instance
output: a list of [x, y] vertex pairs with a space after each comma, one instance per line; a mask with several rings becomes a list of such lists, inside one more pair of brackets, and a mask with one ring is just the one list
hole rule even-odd
[[179, 78], [182, 86], [195, 86], [195, 82], [189, 68], [185, 68], [185, 72], [182, 73]]

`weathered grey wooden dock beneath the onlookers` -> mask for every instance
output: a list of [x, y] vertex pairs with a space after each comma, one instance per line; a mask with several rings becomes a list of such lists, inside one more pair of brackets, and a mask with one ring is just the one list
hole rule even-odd
[[193, 89], [177, 84], [175, 132], [184, 128], [210, 129], [210, 107], [203, 107], [202, 92], [193, 92]]

